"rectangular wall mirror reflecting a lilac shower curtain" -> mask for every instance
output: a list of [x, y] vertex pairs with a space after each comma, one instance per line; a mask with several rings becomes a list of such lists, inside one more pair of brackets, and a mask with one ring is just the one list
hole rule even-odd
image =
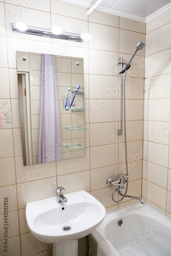
[[17, 51], [16, 62], [24, 165], [85, 156], [83, 58]]

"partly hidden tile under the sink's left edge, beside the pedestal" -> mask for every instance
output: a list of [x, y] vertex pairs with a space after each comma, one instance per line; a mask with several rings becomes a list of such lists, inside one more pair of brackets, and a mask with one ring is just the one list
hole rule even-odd
[[39, 253], [51, 247], [52, 247], [51, 244], [45, 244], [35, 239], [31, 233], [26, 233], [21, 235], [22, 255], [23, 254], [25, 256], [34, 255], [35, 253]]

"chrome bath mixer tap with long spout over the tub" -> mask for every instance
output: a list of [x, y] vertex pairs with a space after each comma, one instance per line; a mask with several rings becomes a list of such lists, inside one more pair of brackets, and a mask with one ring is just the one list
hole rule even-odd
[[125, 184], [127, 182], [127, 179], [128, 176], [126, 176], [125, 174], [119, 174], [118, 175], [118, 179], [113, 181], [112, 178], [108, 178], [106, 180], [106, 184], [107, 185], [112, 185], [112, 186], [119, 186], [119, 188], [117, 188], [115, 191], [113, 191], [114, 193], [116, 191], [118, 191], [118, 194], [121, 196], [121, 197], [128, 197], [128, 198], [132, 198], [132, 199], [136, 199], [136, 200], [139, 200], [142, 204], [144, 204], [144, 200], [139, 198], [139, 197], [132, 197], [132, 196], [128, 196], [128, 195], [124, 195], [122, 194], [122, 189], [124, 189], [124, 186], [123, 184]]

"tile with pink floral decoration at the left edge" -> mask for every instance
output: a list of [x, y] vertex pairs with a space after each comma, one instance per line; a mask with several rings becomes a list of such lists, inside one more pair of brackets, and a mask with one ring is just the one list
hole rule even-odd
[[11, 128], [10, 100], [0, 100], [0, 129]]

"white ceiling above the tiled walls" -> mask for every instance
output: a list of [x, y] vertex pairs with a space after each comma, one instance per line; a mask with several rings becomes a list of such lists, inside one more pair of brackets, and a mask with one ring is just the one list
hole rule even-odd
[[[97, 0], [62, 0], [65, 2], [81, 5], [90, 8]], [[161, 9], [162, 8], [162, 9]], [[103, 0], [96, 8], [104, 12], [120, 16], [130, 16], [146, 22], [149, 16], [163, 13], [163, 10], [171, 8], [170, 0]], [[90, 14], [91, 15], [91, 14]]]

